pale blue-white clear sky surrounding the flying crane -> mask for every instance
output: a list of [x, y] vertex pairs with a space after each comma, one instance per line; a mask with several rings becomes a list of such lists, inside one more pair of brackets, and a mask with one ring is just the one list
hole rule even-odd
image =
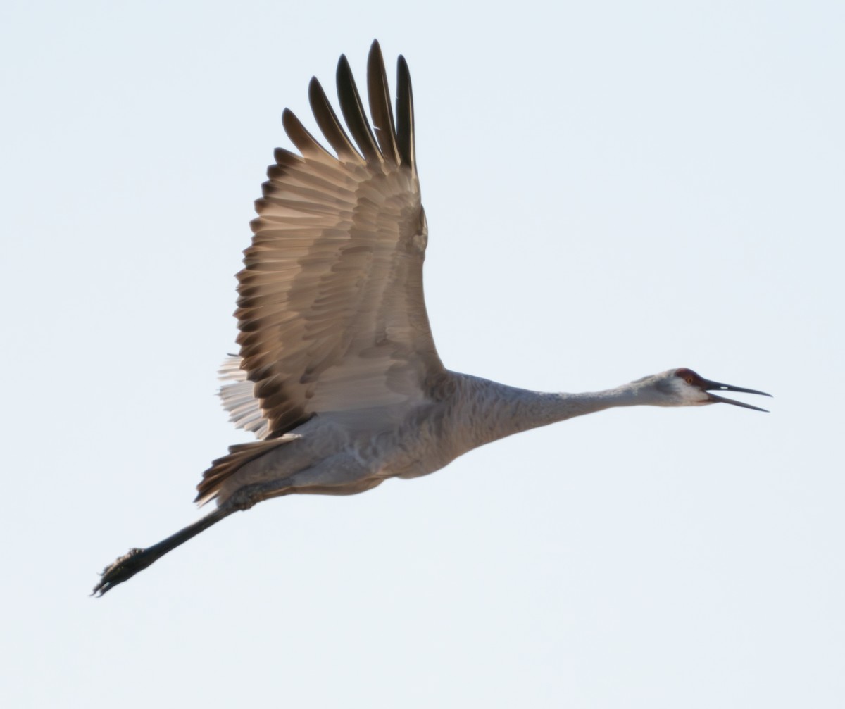
[[[3, 706], [841, 707], [845, 6], [0, 6]], [[233, 274], [289, 106], [411, 68], [444, 363], [671, 367], [433, 476], [193, 521]], [[315, 128], [314, 128], [315, 129]], [[760, 403], [758, 397], [746, 397]]]

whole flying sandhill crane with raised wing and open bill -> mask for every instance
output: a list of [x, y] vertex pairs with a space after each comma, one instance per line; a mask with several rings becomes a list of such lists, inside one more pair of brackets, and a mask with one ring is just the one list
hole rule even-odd
[[101, 597], [232, 513], [289, 494], [362, 493], [435, 472], [469, 450], [615, 406], [705, 406], [765, 392], [673, 368], [612, 389], [544, 393], [444, 367], [423, 299], [428, 223], [420, 198], [411, 75], [367, 63], [369, 117], [341, 55], [344, 128], [316, 77], [308, 101], [325, 147], [289, 109], [297, 152], [277, 148], [237, 274], [239, 351], [221, 367], [230, 420], [256, 437], [213, 461], [196, 502], [210, 513], [102, 571]]

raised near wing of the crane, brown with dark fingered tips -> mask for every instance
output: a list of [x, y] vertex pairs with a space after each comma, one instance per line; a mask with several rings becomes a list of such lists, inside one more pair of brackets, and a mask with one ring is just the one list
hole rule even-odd
[[264, 197], [255, 203], [259, 216], [245, 268], [237, 275], [240, 366], [253, 384], [267, 437], [319, 412], [422, 401], [426, 379], [443, 371], [423, 300], [427, 227], [403, 57], [397, 73], [394, 122], [373, 42], [373, 133], [341, 57], [337, 92], [352, 138], [312, 79], [311, 108], [336, 156], [292, 112], [283, 114], [301, 155], [275, 151]]

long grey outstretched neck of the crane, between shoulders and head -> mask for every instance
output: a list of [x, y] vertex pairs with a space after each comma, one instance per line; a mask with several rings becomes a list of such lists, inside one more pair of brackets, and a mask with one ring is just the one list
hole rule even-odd
[[642, 380], [604, 391], [562, 394], [517, 389], [487, 379], [460, 376], [465, 401], [470, 402], [462, 414], [472, 419], [477, 445], [614, 406], [659, 403], [653, 388]]

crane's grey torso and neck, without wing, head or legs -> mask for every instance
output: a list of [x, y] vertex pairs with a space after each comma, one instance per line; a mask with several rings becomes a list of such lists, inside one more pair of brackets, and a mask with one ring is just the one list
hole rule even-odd
[[[395, 412], [396, 423], [384, 428], [373, 426], [366, 412], [314, 417], [287, 443], [226, 479], [217, 494], [219, 503], [237, 494], [249, 494], [256, 501], [303, 492], [356, 494], [389, 477], [410, 479], [436, 472], [460, 455], [506, 436], [620, 406], [608, 392], [546, 394], [453, 372], [442, 379], [428, 401]], [[620, 392], [619, 399], [627, 395]], [[632, 404], [635, 398], [630, 395]], [[382, 419], [383, 412], [376, 417]]]

